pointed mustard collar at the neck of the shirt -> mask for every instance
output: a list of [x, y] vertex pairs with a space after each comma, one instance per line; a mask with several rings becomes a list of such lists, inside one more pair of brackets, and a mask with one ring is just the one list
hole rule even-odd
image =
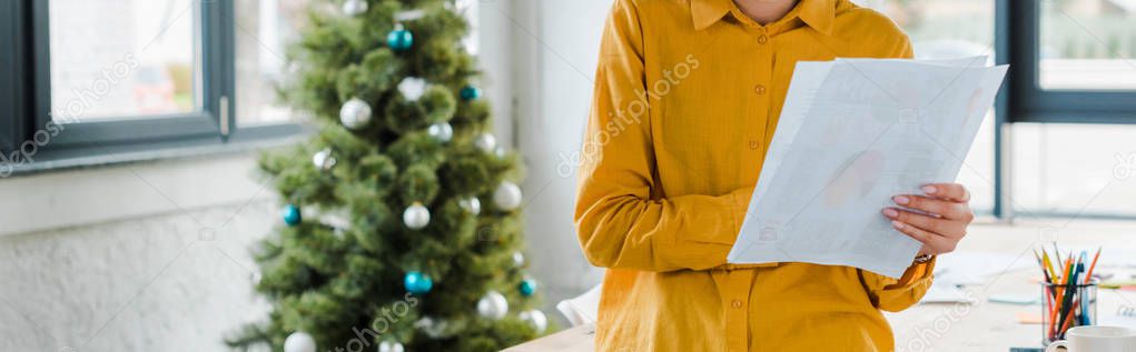
[[[786, 17], [796, 16], [817, 32], [829, 35], [833, 33], [833, 19], [836, 16], [836, 3], [833, 0], [800, 0], [797, 8]], [[694, 28], [702, 31], [721, 20], [727, 12], [736, 11], [733, 0], [691, 0], [691, 15]], [[794, 15], [795, 14], [795, 15]]]

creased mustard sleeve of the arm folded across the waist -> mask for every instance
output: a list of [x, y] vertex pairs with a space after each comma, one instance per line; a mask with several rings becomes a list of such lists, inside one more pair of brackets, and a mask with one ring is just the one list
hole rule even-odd
[[722, 265], [753, 188], [661, 194], [643, 58], [635, 5], [616, 1], [603, 32], [582, 151], [575, 209], [580, 245], [593, 265], [607, 268], [669, 271]]

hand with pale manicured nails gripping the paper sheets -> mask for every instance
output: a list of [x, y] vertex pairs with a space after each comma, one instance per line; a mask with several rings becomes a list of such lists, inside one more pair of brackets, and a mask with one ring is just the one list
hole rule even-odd
[[975, 220], [970, 192], [957, 183], [925, 185], [922, 192], [892, 196], [899, 207], [884, 208], [884, 216], [892, 219], [892, 227], [922, 242], [919, 255], [954, 251]]

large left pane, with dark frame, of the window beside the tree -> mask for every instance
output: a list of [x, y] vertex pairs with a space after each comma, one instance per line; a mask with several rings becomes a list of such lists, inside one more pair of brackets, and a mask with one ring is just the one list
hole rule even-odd
[[22, 156], [228, 136], [232, 2], [22, 1], [34, 58]]

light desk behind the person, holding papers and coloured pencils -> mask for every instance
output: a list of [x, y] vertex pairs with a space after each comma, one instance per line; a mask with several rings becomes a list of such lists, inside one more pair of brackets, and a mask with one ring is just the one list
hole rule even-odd
[[[1029, 252], [1038, 241], [1038, 234], [1052, 236], [1051, 228], [1060, 228], [1062, 244], [1069, 245], [1105, 245], [1108, 248], [1131, 248], [1134, 223], [1102, 223], [1089, 220], [1053, 220], [1053, 224], [1020, 224], [1017, 226], [976, 225], [971, 234], [960, 246], [960, 251], [997, 251], [1020, 254], [1020, 260], [1034, 260]], [[1068, 226], [1063, 225], [1067, 224]], [[1043, 232], [1044, 231], [1044, 232]], [[982, 351], [1004, 352], [1010, 347], [1041, 346], [1041, 326], [1021, 325], [1017, 321], [1018, 312], [1039, 312], [1041, 305], [1013, 305], [989, 303], [991, 294], [1039, 294], [1036, 284], [1030, 279], [1037, 276], [1037, 269], [1029, 266], [1026, 269], [1004, 271], [989, 277], [983, 285], [967, 286], [978, 300], [976, 304], [934, 303], [919, 304], [899, 313], [886, 313], [887, 320], [895, 332], [896, 351]], [[1117, 305], [1136, 305], [1136, 293], [1116, 290], [1101, 290], [1097, 293], [1097, 312], [1104, 315], [1116, 311]], [[586, 325], [570, 328], [543, 338], [521, 344], [506, 351], [509, 352], [543, 352], [594, 351], [594, 326]]]

